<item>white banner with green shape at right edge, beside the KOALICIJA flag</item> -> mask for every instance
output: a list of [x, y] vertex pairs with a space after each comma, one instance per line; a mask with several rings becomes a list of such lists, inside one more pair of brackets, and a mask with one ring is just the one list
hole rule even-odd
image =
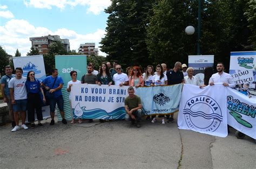
[[234, 129], [256, 139], [256, 98], [228, 88], [227, 123]]

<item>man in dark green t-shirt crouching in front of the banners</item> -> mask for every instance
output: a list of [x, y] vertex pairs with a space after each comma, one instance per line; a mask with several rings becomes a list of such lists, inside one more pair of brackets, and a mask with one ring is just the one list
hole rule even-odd
[[127, 96], [124, 100], [125, 105], [125, 111], [126, 121], [131, 121], [132, 124], [135, 124], [137, 128], [140, 128], [140, 121], [142, 119], [142, 101], [140, 100], [140, 97], [137, 95], [134, 95], [134, 89], [133, 87], [128, 88], [129, 96]]

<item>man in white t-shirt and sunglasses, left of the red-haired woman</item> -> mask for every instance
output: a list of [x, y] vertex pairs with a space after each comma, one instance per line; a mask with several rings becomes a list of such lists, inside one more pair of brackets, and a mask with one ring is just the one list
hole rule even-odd
[[127, 74], [122, 73], [121, 65], [116, 66], [117, 73], [113, 75], [114, 85], [116, 86], [128, 86], [129, 85], [129, 78]]

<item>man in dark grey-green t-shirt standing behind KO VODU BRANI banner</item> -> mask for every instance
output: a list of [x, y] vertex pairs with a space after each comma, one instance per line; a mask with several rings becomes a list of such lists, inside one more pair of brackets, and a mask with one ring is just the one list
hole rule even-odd
[[[85, 84], [98, 84], [98, 78], [95, 74], [92, 73], [93, 71], [93, 65], [88, 64], [87, 65], [87, 73], [82, 76], [81, 83]], [[93, 119], [89, 119], [89, 123], [93, 122]]]

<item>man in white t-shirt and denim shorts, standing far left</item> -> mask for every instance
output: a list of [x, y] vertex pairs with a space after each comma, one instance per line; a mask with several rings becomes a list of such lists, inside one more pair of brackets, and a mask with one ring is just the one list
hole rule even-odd
[[22, 76], [23, 70], [21, 67], [17, 67], [15, 69], [16, 76], [12, 78], [9, 82], [11, 103], [14, 109], [14, 121], [16, 126], [11, 131], [19, 130], [19, 112], [21, 113], [22, 118], [22, 128], [28, 129], [25, 124], [26, 119], [26, 104], [27, 104], [27, 96], [26, 96], [26, 78]]

